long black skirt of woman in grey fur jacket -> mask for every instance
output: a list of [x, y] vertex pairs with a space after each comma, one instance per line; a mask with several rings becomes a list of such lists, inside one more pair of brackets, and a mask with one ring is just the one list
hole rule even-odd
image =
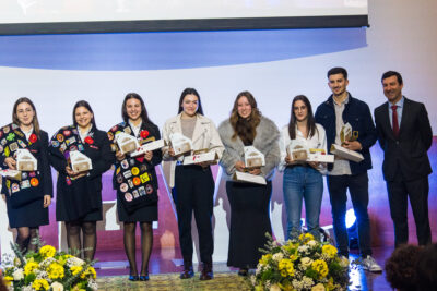
[[272, 183], [267, 185], [226, 182], [231, 205], [231, 231], [227, 266], [256, 268], [267, 243], [265, 233], [272, 234], [269, 205]]

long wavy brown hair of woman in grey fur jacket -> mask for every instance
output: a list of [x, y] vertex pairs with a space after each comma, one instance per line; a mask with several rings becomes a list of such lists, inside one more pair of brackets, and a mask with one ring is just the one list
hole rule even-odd
[[[241, 97], [246, 97], [252, 108], [250, 116], [246, 119], [238, 114], [238, 100]], [[255, 97], [250, 92], [244, 90], [237, 95], [231, 112], [229, 121], [234, 129], [234, 135], [232, 136], [233, 140], [238, 135], [244, 144], [253, 143], [255, 136], [257, 135], [257, 126], [261, 122], [261, 112], [258, 110], [257, 100], [255, 100]]]

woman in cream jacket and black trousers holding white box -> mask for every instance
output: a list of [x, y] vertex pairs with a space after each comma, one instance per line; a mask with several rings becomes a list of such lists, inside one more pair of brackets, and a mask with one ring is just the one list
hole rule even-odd
[[166, 178], [172, 187], [178, 216], [179, 242], [184, 257], [180, 278], [188, 279], [193, 276], [191, 217], [194, 211], [202, 262], [200, 279], [210, 280], [213, 278], [214, 251], [211, 222], [214, 203], [214, 179], [210, 169], [212, 161], [184, 166], [184, 154], [189, 155], [191, 150], [202, 149], [215, 151], [220, 158], [224, 147], [214, 123], [203, 116], [200, 96], [196, 89], [186, 88], [182, 92], [178, 116], [165, 122], [163, 137], [170, 143], [170, 146], [164, 147], [163, 158], [170, 161]]

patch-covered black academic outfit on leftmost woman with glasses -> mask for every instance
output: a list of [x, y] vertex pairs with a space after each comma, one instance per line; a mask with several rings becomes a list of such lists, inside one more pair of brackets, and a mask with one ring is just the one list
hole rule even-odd
[[48, 208], [44, 208], [44, 195], [52, 196], [52, 181], [48, 160], [48, 135], [34, 131], [29, 141], [16, 124], [0, 130], [0, 165], [7, 169], [5, 158], [13, 157], [19, 148], [26, 148], [37, 160], [37, 171], [22, 172], [21, 181], [3, 179], [2, 194], [7, 197], [11, 228], [48, 225]]

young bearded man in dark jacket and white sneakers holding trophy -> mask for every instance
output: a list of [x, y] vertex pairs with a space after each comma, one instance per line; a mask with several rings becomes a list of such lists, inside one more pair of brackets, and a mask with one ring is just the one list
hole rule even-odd
[[347, 84], [345, 69], [329, 70], [328, 86], [332, 95], [316, 111], [316, 122], [323, 125], [328, 148], [335, 155], [334, 163], [328, 166], [327, 177], [334, 234], [340, 255], [347, 257], [345, 215], [349, 189], [357, 218], [363, 267], [368, 271], [380, 272], [381, 267], [371, 257], [370, 220], [367, 213], [367, 170], [371, 169], [369, 148], [377, 140], [377, 133], [369, 107], [351, 96], [346, 90]]

